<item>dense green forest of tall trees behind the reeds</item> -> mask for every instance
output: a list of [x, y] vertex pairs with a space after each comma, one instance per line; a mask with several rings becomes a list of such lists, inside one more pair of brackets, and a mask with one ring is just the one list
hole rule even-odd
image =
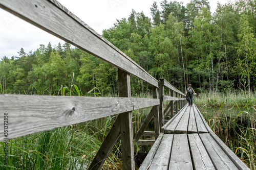
[[[187, 84], [197, 92], [255, 90], [256, 1], [218, 4], [211, 13], [207, 0], [186, 6], [164, 0], [152, 5], [151, 14], [132, 10], [102, 35], [156, 79], [165, 78], [180, 90]], [[72, 85], [83, 94], [93, 89], [94, 95], [115, 96], [118, 90], [115, 66], [67, 42], [3, 56], [0, 77], [7, 93], [63, 95], [62, 89], [67, 94]], [[151, 89], [133, 76], [131, 84], [133, 95]]]

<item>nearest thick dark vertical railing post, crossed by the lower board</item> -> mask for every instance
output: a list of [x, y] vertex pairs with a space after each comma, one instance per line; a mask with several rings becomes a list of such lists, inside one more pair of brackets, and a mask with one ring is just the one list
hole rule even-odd
[[[118, 68], [119, 97], [131, 98], [130, 74]], [[135, 170], [132, 112], [120, 114], [122, 169]]]

